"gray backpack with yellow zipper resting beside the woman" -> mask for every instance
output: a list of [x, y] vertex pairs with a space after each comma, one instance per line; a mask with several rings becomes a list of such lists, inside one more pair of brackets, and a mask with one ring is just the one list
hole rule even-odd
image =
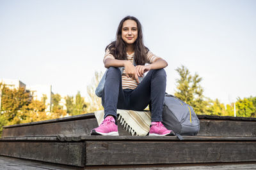
[[200, 122], [193, 108], [170, 94], [164, 97], [163, 125], [175, 132], [178, 138], [180, 134], [196, 135], [200, 129]]

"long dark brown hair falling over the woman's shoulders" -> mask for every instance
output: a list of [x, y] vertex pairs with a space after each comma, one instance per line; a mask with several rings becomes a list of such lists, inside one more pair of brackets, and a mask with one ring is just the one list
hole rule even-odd
[[116, 31], [116, 41], [113, 41], [108, 46], [106, 46], [105, 51], [109, 48], [110, 53], [118, 60], [127, 60], [126, 55], [126, 45], [122, 39], [122, 27], [125, 20], [134, 20], [138, 27], [138, 38], [134, 42], [134, 61], [137, 65], [145, 65], [147, 61], [148, 48], [144, 46], [142, 27], [140, 21], [132, 16], [127, 16], [121, 20]]

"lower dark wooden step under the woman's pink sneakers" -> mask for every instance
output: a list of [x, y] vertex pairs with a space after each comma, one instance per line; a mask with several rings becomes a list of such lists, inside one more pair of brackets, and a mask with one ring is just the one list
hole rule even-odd
[[0, 139], [0, 155], [70, 166], [255, 162], [256, 137], [81, 136]]

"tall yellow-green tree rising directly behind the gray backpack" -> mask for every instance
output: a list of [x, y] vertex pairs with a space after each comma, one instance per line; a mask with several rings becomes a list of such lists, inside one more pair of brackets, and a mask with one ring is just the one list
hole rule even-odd
[[205, 101], [204, 89], [200, 85], [202, 78], [197, 73], [192, 76], [185, 66], [178, 67], [175, 71], [179, 73], [180, 78], [176, 80], [177, 90], [174, 95], [191, 105], [195, 113], [205, 113], [209, 103]]

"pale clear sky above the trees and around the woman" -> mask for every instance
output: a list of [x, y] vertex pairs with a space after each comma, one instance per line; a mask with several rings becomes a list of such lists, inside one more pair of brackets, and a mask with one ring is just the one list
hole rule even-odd
[[198, 73], [204, 95], [222, 103], [256, 96], [256, 1], [0, 0], [0, 78], [51, 84], [61, 96], [86, 96], [122, 18], [143, 25], [145, 46], [175, 69]]

